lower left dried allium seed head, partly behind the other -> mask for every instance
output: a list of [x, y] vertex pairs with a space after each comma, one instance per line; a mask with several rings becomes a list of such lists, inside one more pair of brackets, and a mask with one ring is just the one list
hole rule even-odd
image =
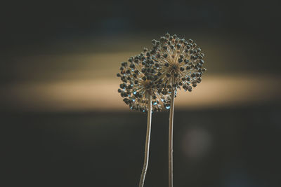
[[[161, 102], [169, 103], [169, 97], [157, 92], [159, 81], [159, 64], [152, 60], [148, 49], [144, 53], [129, 58], [128, 62], [122, 62], [118, 77], [123, 81], [118, 92], [130, 109], [136, 111], [148, 111], [150, 95], [152, 97], [152, 111], [162, 109]], [[160, 102], [161, 101], [161, 102]]]

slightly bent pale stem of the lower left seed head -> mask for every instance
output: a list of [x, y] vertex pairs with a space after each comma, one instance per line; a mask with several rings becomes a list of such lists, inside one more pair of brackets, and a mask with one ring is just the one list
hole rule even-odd
[[141, 179], [138, 187], [143, 187], [145, 183], [145, 174], [148, 170], [148, 158], [149, 158], [149, 147], [150, 147], [150, 132], [151, 132], [151, 116], [152, 116], [152, 104], [151, 104], [151, 95], [148, 100], [150, 103], [148, 105], [148, 127], [146, 130], [146, 139], [145, 139], [145, 160], [143, 163], [143, 171], [141, 172]]

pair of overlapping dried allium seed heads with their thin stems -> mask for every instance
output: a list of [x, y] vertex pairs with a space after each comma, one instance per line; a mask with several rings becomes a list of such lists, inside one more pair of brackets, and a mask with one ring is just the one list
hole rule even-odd
[[143, 187], [148, 168], [151, 113], [170, 109], [169, 119], [169, 187], [173, 186], [173, 118], [176, 91], [192, 91], [202, 81], [204, 54], [191, 39], [179, 39], [165, 34], [159, 41], [152, 40], [152, 49], [144, 48], [140, 55], [122, 62], [122, 82], [118, 92], [130, 109], [148, 111], [148, 129], [145, 142], [145, 162], [139, 187]]

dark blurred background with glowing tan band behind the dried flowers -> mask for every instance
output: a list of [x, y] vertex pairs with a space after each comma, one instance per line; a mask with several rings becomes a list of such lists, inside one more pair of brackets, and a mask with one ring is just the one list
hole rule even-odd
[[[207, 62], [176, 97], [174, 186], [281, 186], [278, 1], [0, 9], [1, 186], [138, 186], [146, 114], [129, 111], [116, 74], [166, 32], [195, 40]], [[168, 186], [168, 119], [153, 113], [145, 186]]]

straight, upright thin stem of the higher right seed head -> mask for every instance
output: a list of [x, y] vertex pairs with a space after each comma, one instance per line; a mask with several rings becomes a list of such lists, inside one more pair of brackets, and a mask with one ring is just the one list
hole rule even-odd
[[173, 187], [173, 130], [174, 130], [175, 90], [171, 92], [171, 109], [169, 117], [169, 187]]

